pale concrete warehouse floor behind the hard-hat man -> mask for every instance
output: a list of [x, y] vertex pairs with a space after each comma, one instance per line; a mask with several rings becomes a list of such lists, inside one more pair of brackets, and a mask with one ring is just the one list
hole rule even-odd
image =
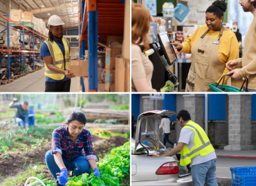
[[[0, 86], [0, 92], [44, 92], [46, 76], [44, 68], [23, 76], [7, 85]], [[77, 77], [71, 79], [71, 92], [77, 92]]]

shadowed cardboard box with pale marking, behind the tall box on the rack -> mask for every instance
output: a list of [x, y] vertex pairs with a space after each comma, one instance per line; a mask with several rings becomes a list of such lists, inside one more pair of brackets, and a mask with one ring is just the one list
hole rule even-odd
[[105, 68], [108, 70], [115, 69], [115, 56], [122, 54], [122, 48], [106, 48]]

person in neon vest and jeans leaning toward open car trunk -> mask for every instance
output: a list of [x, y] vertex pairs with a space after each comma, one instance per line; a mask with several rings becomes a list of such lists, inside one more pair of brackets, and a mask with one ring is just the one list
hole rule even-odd
[[176, 119], [182, 127], [179, 142], [167, 154], [161, 156], [174, 156], [181, 152], [181, 166], [190, 164], [194, 186], [203, 186], [205, 180], [208, 186], [217, 186], [216, 154], [203, 128], [191, 121], [187, 110], [180, 110]]

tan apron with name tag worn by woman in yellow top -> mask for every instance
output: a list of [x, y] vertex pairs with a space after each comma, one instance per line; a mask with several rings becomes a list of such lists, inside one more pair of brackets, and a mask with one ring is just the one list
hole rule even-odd
[[226, 68], [226, 65], [219, 60], [218, 54], [223, 29], [222, 25], [219, 39], [205, 36], [209, 31], [207, 30], [192, 47], [192, 63], [185, 92], [206, 92], [210, 83], [216, 83], [221, 78]]

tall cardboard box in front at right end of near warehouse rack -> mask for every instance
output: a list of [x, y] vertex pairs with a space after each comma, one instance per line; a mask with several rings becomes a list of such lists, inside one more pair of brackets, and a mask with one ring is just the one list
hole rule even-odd
[[130, 61], [116, 57], [116, 92], [130, 92]]

